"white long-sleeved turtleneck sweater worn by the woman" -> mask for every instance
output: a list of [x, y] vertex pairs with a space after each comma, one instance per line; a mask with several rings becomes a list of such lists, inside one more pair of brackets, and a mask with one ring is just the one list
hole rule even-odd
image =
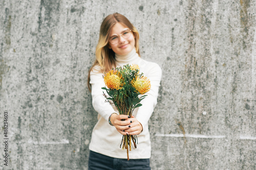
[[[141, 101], [142, 106], [134, 110], [133, 115], [138, 119], [143, 127], [143, 131], [137, 135], [138, 144], [137, 149], [129, 151], [130, 159], [146, 159], [151, 157], [151, 142], [150, 133], [148, 132], [148, 120], [154, 111], [157, 104], [158, 89], [160, 86], [162, 70], [156, 63], [145, 61], [141, 59], [136, 53], [135, 48], [127, 55], [115, 56], [116, 65], [123, 66], [126, 64], [138, 64], [140, 73], [150, 79], [151, 89], [147, 93], [145, 99]], [[89, 145], [91, 151], [114, 157], [126, 159], [126, 151], [120, 149], [122, 134], [120, 134], [114, 126], [109, 124], [109, 116], [116, 112], [115, 106], [105, 103], [105, 98], [102, 95], [104, 91], [101, 87], [105, 87], [102, 76], [99, 73], [99, 66], [95, 66], [91, 71], [90, 84], [92, 85], [92, 104], [94, 109], [98, 112], [98, 122], [92, 132], [92, 139]]]

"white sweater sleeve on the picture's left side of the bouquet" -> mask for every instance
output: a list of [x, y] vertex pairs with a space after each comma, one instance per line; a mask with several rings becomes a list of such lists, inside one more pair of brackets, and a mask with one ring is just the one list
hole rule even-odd
[[116, 111], [109, 103], [105, 102], [103, 92], [105, 94], [108, 93], [101, 89], [101, 87], [105, 87], [102, 77], [103, 74], [101, 72], [97, 72], [97, 70], [100, 70], [100, 67], [94, 66], [90, 73], [90, 84], [92, 86], [92, 104], [96, 112], [98, 112], [106, 121], [109, 121], [109, 116], [111, 113]]

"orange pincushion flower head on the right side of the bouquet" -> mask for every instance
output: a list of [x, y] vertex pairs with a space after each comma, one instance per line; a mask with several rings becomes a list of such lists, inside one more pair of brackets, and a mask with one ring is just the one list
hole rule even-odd
[[132, 85], [140, 94], [148, 92], [151, 88], [150, 80], [146, 77], [137, 77], [136, 80], [132, 80]]

